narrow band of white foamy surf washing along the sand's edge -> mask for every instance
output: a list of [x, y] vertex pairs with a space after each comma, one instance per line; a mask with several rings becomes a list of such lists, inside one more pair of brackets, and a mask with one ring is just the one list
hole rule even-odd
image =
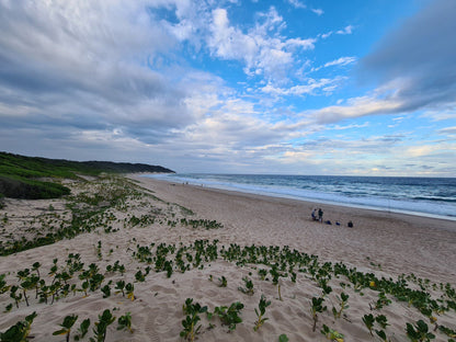
[[[134, 173], [134, 174], [138, 174], [138, 173]], [[170, 182], [170, 183], [181, 183], [182, 184], [182, 180], [180, 180], [180, 179], [179, 180], [172, 180], [172, 179], [167, 179], [167, 178], [156, 178], [151, 173], [141, 173], [141, 176], [147, 178], [147, 179], [161, 180], [161, 181]], [[363, 205], [363, 204], [356, 204], [356, 203], [350, 203], [350, 202], [343, 203], [343, 202], [335, 202], [335, 201], [330, 201], [330, 200], [300, 197], [300, 196], [293, 195], [293, 194], [286, 194], [286, 193], [280, 193], [280, 192], [270, 192], [267, 190], [264, 190], [264, 191], [262, 191], [262, 190], [248, 190], [248, 189], [240, 189], [240, 187], [230, 186], [230, 185], [212, 185], [212, 184], [198, 183], [196, 181], [185, 182], [185, 184], [193, 185], [193, 186], [205, 186], [207, 189], [215, 189], [215, 190], [220, 190], [220, 191], [231, 191], [231, 192], [246, 193], [246, 194], [252, 194], [252, 195], [259, 195], [259, 196], [266, 196], [266, 197], [287, 198], [287, 200], [295, 200], [295, 201], [301, 201], [301, 202], [308, 202], [308, 203], [317, 203], [317, 204], [321, 204], [321, 205], [333, 205], [333, 206], [341, 206], [341, 207], [346, 207], [346, 208], [356, 208], [356, 209], [376, 210], [376, 212], [384, 212], [384, 213], [403, 214], [403, 215], [411, 215], [411, 216], [433, 218], [433, 219], [443, 219], [443, 220], [449, 220], [449, 221], [455, 221], [456, 223], [456, 215], [455, 216], [438, 215], [438, 214], [432, 214], [432, 213], [425, 213], [425, 212], [417, 212], [417, 210], [394, 208], [394, 207], [390, 207], [390, 206], [388, 206], [388, 207], [387, 206], [374, 206], [374, 205]], [[392, 201], [395, 201], [395, 200], [392, 200]]]

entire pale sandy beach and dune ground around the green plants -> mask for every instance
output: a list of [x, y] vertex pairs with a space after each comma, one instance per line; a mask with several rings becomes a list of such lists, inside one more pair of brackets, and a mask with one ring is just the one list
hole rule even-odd
[[[65, 337], [53, 335], [53, 332], [59, 329], [66, 316], [75, 314], [79, 318], [71, 334], [77, 333], [76, 327], [82, 319], [90, 318], [92, 326], [82, 339], [89, 341], [88, 337], [93, 337], [93, 322], [103, 310], [110, 309], [116, 318], [130, 312], [134, 332], [117, 330], [115, 321], [109, 327], [106, 341], [184, 341], [180, 333], [183, 331], [182, 320], [186, 317], [183, 312], [186, 298], [206, 306], [210, 312], [237, 301], [243, 306], [239, 312], [242, 322], [235, 327], [225, 324], [220, 317], [209, 319], [205, 312], [198, 314], [201, 320], [197, 324], [202, 326], [196, 334], [198, 341], [278, 341], [282, 334], [286, 334], [289, 341], [335, 341], [335, 335], [326, 337], [321, 332], [323, 326], [343, 334], [344, 341], [381, 341], [375, 329], [384, 330], [389, 341], [409, 341], [406, 324], [413, 324], [420, 319], [429, 324], [430, 330], [436, 329], [435, 341], [448, 340], [448, 335], [437, 329], [440, 326], [456, 330], [455, 309], [433, 311], [431, 317], [436, 319], [436, 323], [431, 323], [429, 315], [423, 316], [414, 303], [398, 300], [392, 293], [384, 293], [389, 303], [386, 300], [379, 305], [381, 292], [377, 281], [357, 288], [343, 275], [334, 273], [332, 277], [324, 278], [324, 285], [331, 287], [330, 293], [324, 293], [321, 278], [308, 273], [309, 265], [301, 267], [306, 272], [298, 271], [297, 266], [293, 271], [281, 270], [281, 276], [274, 283], [273, 273], [267, 273], [265, 278], [260, 274], [261, 269], [270, 272], [274, 267], [221, 258], [223, 249], [235, 244], [240, 249], [253, 244], [273, 246], [281, 251], [296, 250], [306, 255], [317, 255], [319, 265], [341, 263], [346, 269], [356, 267], [357, 272], [369, 274], [371, 280], [375, 276], [376, 280], [397, 282], [404, 274], [410, 288], [422, 289], [432, 299], [449, 300], [442, 286], [449, 283], [454, 288], [456, 285], [455, 221], [214, 190], [138, 174], [128, 175], [128, 179], [138, 192], [146, 195], [130, 196], [123, 207], [106, 209], [100, 227], [72, 239], [0, 256], [0, 275], [5, 274], [7, 284], [18, 283], [16, 272], [32, 269], [35, 262], [41, 263], [42, 273], [46, 274], [46, 282], [49, 283], [52, 275], [47, 274], [54, 259], [58, 259], [58, 269], [64, 270], [69, 267], [68, 262], [65, 264], [69, 253], [78, 253], [84, 269], [90, 263], [99, 266], [100, 274], [104, 276], [100, 288], [107, 285], [111, 295], [105, 296], [100, 288], [87, 294], [75, 290], [64, 296], [60, 293], [61, 297], [49, 305], [35, 299], [31, 290], [30, 306], [22, 299], [18, 308], [9, 296], [9, 289], [0, 295], [0, 309], [13, 304], [9, 312], [0, 318], [0, 331], [4, 332], [36, 311], [37, 317], [31, 329], [34, 341], [64, 341]], [[87, 191], [92, 185], [88, 182], [84, 186], [83, 191]], [[99, 190], [94, 187], [93, 191]], [[77, 186], [72, 192], [78, 192]], [[69, 215], [59, 200], [8, 200], [7, 208], [0, 213], [2, 217], [5, 213], [9, 217], [2, 226], [4, 237], [8, 231], [23, 232], [23, 227], [30, 226], [30, 218], [48, 210], [49, 204], [53, 206], [49, 212], [59, 213], [61, 219]], [[331, 225], [312, 221], [310, 213], [314, 208], [322, 208], [323, 221], [330, 220]], [[196, 221], [196, 227], [184, 224], [189, 220]], [[205, 228], [204, 220], [217, 224], [215, 228]], [[353, 228], [347, 227], [349, 221], [353, 223]], [[201, 240], [207, 240], [204, 242], [207, 250], [208, 246], [217, 247], [218, 256], [203, 258], [197, 266], [179, 271], [176, 250], [187, 248], [193, 258], [186, 261], [195, 264], [197, 252], [192, 252], [192, 248], [194, 250], [195, 241]], [[167, 254], [172, 270], [169, 277], [166, 271], [169, 267], [155, 272], [157, 260], [147, 262], [146, 256], [139, 258], [140, 251], [157, 251], [160, 243], [175, 246]], [[140, 247], [148, 248], [141, 250]], [[125, 266], [125, 272], [106, 269], [116, 261]], [[148, 266], [152, 270], [147, 271]], [[138, 272], [146, 274], [144, 281], [137, 276]], [[76, 272], [68, 284], [76, 284], [75, 288], [79, 288], [80, 274], [81, 271]], [[253, 283], [251, 295], [239, 289], [246, 289], [244, 278]], [[426, 278], [429, 281], [424, 281]], [[135, 300], [115, 290], [115, 284], [121, 280], [134, 284]], [[337, 317], [331, 309], [342, 311], [342, 293], [350, 296], [350, 307]], [[267, 320], [255, 331], [253, 327], [259, 320], [255, 309], [259, 310], [262, 296], [271, 304], [264, 314]], [[318, 312], [315, 331], [315, 317], [310, 309], [312, 297], [322, 297], [327, 307], [327, 310]], [[363, 323], [364, 315], [385, 316], [388, 326], [380, 329], [376, 322], [372, 335]]]

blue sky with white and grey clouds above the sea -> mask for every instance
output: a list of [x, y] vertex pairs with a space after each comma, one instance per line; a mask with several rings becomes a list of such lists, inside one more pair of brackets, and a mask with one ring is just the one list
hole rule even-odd
[[456, 176], [456, 0], [0, 0], [0, 150]]

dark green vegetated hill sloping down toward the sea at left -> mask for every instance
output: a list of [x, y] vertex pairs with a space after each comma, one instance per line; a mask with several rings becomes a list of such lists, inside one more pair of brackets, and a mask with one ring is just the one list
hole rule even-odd
[[76, 179], [77, 174], [99, 175], [102, 172], [174, 173], [163, 167], [144, 163], [71, 161], [0, 152], [0, 200], [3, 196], [29, 200], [60, 197], [69, 194], [69, 189], [47, 179]]

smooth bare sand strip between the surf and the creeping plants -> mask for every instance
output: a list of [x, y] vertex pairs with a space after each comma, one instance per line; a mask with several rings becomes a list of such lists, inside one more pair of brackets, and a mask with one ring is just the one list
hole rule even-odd
[[[176, 203], [209, 219], [224, 223], [244, 244], [289, 246], [327, 260], [371, 267], [380, 263], [388, 273], [414, 273], [423, 278], [455, 283], [456, 227], [454, 221], [413, 215], [320, 205], [312, 202], [207, 186], [181, 184], [130, 174], [158, 197]], [[311, 210], [322, 207], [326, 225], [310, 219]], [[354, 228], [347, 228], [352, 220]], [[277, 228], [281, 223], [281, 228]], [[282, 228], [283, 227], [283, 228]], [[244, 230], [253, 230], [246, 233]], [[281, 229], [286, 231], [281, 232]], [[267, 233], [270, 236], [267, 236]], [[264, 239], [259, 239], [264, 235]], [[224, 241], [224, 240], [221, 240]], [[224, 242], [239, 243], [236, 236]], [[445, 262], [442, 262], [445, 261]]]

